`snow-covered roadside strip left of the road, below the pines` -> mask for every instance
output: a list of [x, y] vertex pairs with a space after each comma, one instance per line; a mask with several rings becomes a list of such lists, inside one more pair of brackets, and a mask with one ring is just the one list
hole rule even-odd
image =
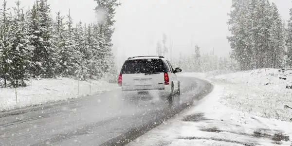
[[117, 84], [92, 80], [91, 83], [79, 81], [78, 90], [78, 81], [70, 78], [31, 80], [30, 84], [17, 89], [18, 105], [15, 89], [0, 88], [0, 111], [83, 97], [118, 88]]

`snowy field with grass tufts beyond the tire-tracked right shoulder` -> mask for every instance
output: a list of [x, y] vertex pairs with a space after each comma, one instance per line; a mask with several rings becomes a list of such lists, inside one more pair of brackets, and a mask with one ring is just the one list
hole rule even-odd
[[[184, 76], [206, 78], [224, 86], [222, 103], [232, 109], [251, 114], [290, 121], [292, 110], [292, 71], [258, 69], [245, 72], [214, 75], [212, 73], [184, 73]], [[286, 80], [280, 78], [287, 78]]]

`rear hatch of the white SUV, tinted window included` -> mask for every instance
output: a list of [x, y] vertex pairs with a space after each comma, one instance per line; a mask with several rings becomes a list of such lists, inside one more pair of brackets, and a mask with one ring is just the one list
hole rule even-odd
[[124, 91], [163, 90], [164, 62], [161, 59], [127, 60], [122, 69]]

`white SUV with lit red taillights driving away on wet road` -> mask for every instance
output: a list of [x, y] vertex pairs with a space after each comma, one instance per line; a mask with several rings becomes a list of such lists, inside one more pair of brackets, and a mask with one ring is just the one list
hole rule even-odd
[[163, 56], [129, 57], [122, 66], [118, 84], [126, 97], [159, 96], [169, 104], [180, 101], [180, 81], [176, 73], [182, 69], [172, 68]]

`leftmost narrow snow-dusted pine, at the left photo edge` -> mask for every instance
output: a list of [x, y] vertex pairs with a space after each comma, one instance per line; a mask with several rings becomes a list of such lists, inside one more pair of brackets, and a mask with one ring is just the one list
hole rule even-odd
[[3, 1], [2, 7], [0, 9], [0, 78], [4, 79], [4, 87], [7, 85], [7, 80], [9, 80], [9, 65], [11, 60], [9, 60], [8, 52], [11, 47], [11, 15], [7, 12], [9, 9], [6, 6], [7, 0]]

